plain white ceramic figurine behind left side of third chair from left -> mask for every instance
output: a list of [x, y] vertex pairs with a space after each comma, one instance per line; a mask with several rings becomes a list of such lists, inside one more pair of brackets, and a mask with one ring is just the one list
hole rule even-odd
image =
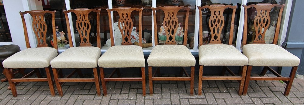
[[[115, 22], [113, 27], [114, 27], [115, 46], [120, 46], [121, 43], [123, 42], [123, 40], [122, 40], [123, 36], [121, 35], [121, 32], [119, 30], [118, 22]], [[120, 24], [120, 28], [121, 29], [123, 28], [122, 24]], [[111, 47], [111, 39], [108, 39], [106, 44], [107, 44], [108, 47]]]

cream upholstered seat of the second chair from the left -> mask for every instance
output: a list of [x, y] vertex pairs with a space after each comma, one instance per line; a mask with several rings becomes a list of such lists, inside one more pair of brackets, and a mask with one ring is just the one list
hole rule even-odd
[[95, 68], [100, 57], [98, 47], [71, 47], [51, 61], [52, 68]]

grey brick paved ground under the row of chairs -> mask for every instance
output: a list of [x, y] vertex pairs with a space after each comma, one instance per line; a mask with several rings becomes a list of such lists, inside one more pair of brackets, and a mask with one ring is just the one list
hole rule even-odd
[[[3, 74], [0, 77], [2, 78]], [[23, 82], [16, 86], [18, 97], [12, 97], [11, 91], [7, 90], [9, 84], [4, 82], [0, 84], [0, 104], [304, 104], [304, 80], [299, 78], [295, 79], [288, 97], [283, 95], [285, 83], [279, 81], [251, 81], [248, 95], [239, 96], [239, 84], [230, 80], [203, 81], [203, 95], [198, 96], [197, 76], [195, 80], [194, 96], [189, 96], [189, 82], [157, 81], [154, 83], [153, 96], [148, 94], [147, 82], [146, 97], [142, 96], [141, 82], [109, 82], [107, 97], [97, 97], [95, 84], [89, 82], [64, 83], [63, 97], [59, 97], [58, 94], [50, 97], [47, 82]]]

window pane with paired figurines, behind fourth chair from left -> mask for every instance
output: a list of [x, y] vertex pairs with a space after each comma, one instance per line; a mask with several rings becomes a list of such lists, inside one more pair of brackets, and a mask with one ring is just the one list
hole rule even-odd
[[[158, 6], [184, 6], [184, 7], [189, 7], [190, 8], [190, 12], [189, 12], [189, 16], [188, 16], [188, 22], [185, 22], [186, 19], [186, 11], [185, 10], [180, 10], [178, 11], [177, 14], [177, 18], [178, 18], [178, 22], [181, 23], [180, 29], [184, 29], [181, 33], [177, 32], [178, 34], [175, 35], [175, 41], [177, 42], [177, 44], [183, 44], [183, 40], [187, 40], [187, 47], [189, 49], [193, 49], [193, 44], [194, 44], [194, 30], [195, 30], [195, 5], [196, 1], [195, 0], [156, 0], [156, 7]], [[157, 11], [156, 12], [156, 16], [157, 17], [157, 40], [158, 43], [162, 44], [163, 43], [163, 39], [162, 37], [160, 37], [159, 32], [162, 29], [162, 23], [164, 21], [164, 12], [162, 11]], [[183, 35], [182, 33], [185, 32], [185, 24], [188, 24], [188, 38], [186, 39], [181, 39], [180, 38], [180, 34]], [[179, 29], [177, 30], [179, 31]], [[170, 38], [169, 38], [170, 39]]]

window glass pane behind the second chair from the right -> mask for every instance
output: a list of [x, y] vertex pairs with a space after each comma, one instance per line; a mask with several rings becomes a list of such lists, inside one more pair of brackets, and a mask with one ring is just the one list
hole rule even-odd
[[[232, 39], [232, 45], [235, 46], [236, 38], [237, 38], [237, 31], [238, 31], [238, 25], [240, 21], [240, 6], [241, 6], [242, 0], [202, 0], [200, 6], [205, 5], [232, 5], [237, 6], [235, 17], [234, 17], [234, 26], [233, 27], [233, 39]], [[231, 28], [231, 20], [232, 20], [232, 13], [233, 9], [226, 8], [223, 12], [224, 16], [224, 26], [220, 33], [220, 40], [223, 44], [229, 44], [229, 36], [230, 36], [230, 28]], [[211, 12], [208, 8], [205, 8], [202, 10], [202, 28], [203, 32], [205, 34], [208, 34], [207, 38], [204, 38], [204, 44], [209, 43], [209, 40], [211, 40], [211, 31], [214, 31], [215, 29], [210, 29], [209, 27], [209, 19], [210, 19]]]

